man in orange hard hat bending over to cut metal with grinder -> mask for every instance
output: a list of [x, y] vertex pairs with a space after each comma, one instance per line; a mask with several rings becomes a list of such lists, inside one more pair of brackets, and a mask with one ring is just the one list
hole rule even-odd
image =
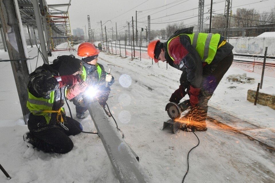
[[201, 124], [182, 130], [207, 130], [207, 104], [233, 62], [232, 49], [220, 34], [193, 33], [193, 27], [177, 30], [164, 43], [154, 40], [148, 44], [148, 55], [155, 62], [166, 61], [182, 71], [180, 86], [169, 101], [178, 104], [188, 94], [191, 109], [185, 117]]

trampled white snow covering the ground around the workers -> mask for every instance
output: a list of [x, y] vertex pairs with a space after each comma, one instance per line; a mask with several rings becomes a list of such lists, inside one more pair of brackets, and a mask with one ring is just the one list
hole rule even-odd
[[[63, 46], [64, 47], [64, 46]], [[77, 48], [77, 47], [76, 47]], [[37, 48], [28, 47], [29, 57], [37, 54]], [[76, 52], [53, 52], [52, 61], [58, 55]], [[9, 59], [0, 50], [2, 60]], [[31, 61], [32, 71], [36, 59]], [[170, 95], [178, 88], [180, 71], [160, 62], [99, 54], [99, 63], [113, 64], [111, 74], [115, 83], [111, 86], [111, 98], [107, 101], [114, 118], [125, 135], [125, 142], [140, 158], [140, 165], [150, 177], [150, 182], [181, 182], [187, 170], [188, 151], [197, 145], [193, 133], [180, 131], [173, 134], [160, 128], [169, 119], [164, 111]], [[39, 57], [38, 66], [42, 65]], [[255, 83], [233, 82], [232, 74], [246, 74]], [[119, 182], [115, 171], [97, 135], [81, 133], [70, 136], [74, 148], [67, 154], [46, 154], [27, 147], [23, 134], [24, 124], [11, 64], [0, 62], [0, 164], [11, 176], [7, 180], [0, 172], [0, 182]], [[238, 68], [229, 68], [209, 101], [211, 107], [250, 121], [263, 128], [275, 129], [274, 110], [246, 100], [247, 90], [256, 89], [261, 75]], [[263, 89], [275, 93], [275, 78], [264, 77]], [[187, 97], [184, 97], [187, 99]], [[75, 117], [74, 105], [69, 102]], [[68, 107], [65, 105], [66, 113]], [[114, 125], [112, 118], [108, 118]], [[85, 131], [96, 131], [91, 117], [78, 120]], [[198, 147], [189, 155], [189, 172], [185, 182], [275, 182], [274, 154], [266, 151], [244, 135], [223, 129], [207, 121], [206, 132], [196, 132]]]

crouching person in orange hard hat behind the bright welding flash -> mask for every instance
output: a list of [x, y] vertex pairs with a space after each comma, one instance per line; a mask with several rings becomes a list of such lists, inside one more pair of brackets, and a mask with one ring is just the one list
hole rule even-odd
[[[110, 86], [115, 80], [110, 73], [105, 72], [103, 65], [97, 63], [99, 53], [100, 51], [97, 50], [93, 44], [88, 42], [80, 44], [77, 50], [77, 55], [82, 57], [83, 64], [81, 79], [87, 82], [87, 89], [92, 87], [97, 89], [94, 98], [96, 98], [99, 104], [105, 108], [106, 101], [111, 91]], [[85, 111], [88, 109], [87, 106], [83, 105], [82, 97], [83, 95], [80, 94], [72, 99], [74, 105], [76, 105], [76, 117], [78, 119], [84, 118]]]

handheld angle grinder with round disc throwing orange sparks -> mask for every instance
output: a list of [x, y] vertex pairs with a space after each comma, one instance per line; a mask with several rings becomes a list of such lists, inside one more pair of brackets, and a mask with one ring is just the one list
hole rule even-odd
[[180, 117], [180, 114], [187, 110], [190, 107], [190, 101], [186, 100], [183, 101], [182, 103], [174, 103], [174, 102], [169, 102], [166, 107], [165, 107], [165, 111], [167, 111], [168, 116], [171, 119], [175, 119]]

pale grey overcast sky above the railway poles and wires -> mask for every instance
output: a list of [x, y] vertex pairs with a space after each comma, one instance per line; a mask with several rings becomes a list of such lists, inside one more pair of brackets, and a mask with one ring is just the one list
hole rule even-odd
[[[69, 3], [69, 0], [46, 0], [51, 4]], [[211, 0], [205, 0], [203, 26], [209, 26], [209, 13]], [[95, 32], [100, 32], [100, 21], [103, 29], [106, 26], [107, 34], [111, 34], [111, 29], [115, 32], [115, 23], [117, 31], [125, 31], [126, 21], [134, 19], [137, 12], [137, 27], [146, 28], [148, 15], [151, 18], [151, 30], [165, 28], [168, 22], [179, 23], [182, 20], [185, 25], [194, 25], [198, 22], [199, 0], [72, 0], [69, 7], [69, 16], [71, 29], [82, 28], [85, 32], [88, 29], [87, 15], [90, 15], [91, 28]], [[262, 13], [270, 11], [275, 7], [275, 0], [232, 0], [232, 12], [237, 8], [254, 8]], [[213, 0], [213, 13], [224, 14], [225, 0]], [[66, 8], [58, 7], [60, 10]], [[174, 14], [174, 15], [172, 15]], [[169, 16], [170, 15], [170, 16]], [[213, 14], [215, 16], [215, 14]], [[208, 19], [207, 19], [208, 18]], [[87, 33], [88, 34], [88, 33]]]

